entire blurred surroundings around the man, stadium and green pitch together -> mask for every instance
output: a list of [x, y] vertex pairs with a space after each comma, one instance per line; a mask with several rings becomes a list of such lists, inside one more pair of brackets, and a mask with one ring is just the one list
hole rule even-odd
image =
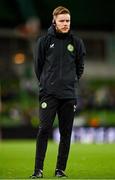
[[[33, 50], [59, 5], [70, 9], [72, 30], [87, 51], [67, 174], [115, 179], [114, 0], [0, 0], [0, 179], [26, 179], [32, 173], [39, 125]], [[47, 178], [55, 166], [57, 118], [50, 138]]]

